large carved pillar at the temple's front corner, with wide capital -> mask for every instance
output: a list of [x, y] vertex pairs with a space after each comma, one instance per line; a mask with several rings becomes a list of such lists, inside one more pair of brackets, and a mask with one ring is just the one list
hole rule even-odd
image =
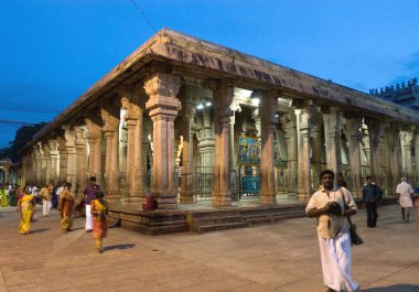
[[152, 74], [144, 83], [146, 93], [150, 97], [146, 108], [153, 121], [151, 192], [157, 196], [159, 209], [178, 208], [173, 122], [181, 108], [181, 102], [176, 98], [180, 85], [180, 77], [161, 72]]

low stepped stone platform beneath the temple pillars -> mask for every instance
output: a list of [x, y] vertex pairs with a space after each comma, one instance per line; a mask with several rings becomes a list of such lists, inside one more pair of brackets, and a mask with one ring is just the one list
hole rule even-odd
[[[379, 205], [396, 204], [394, 196]], [[357, 201], [359, 207], [362, 204]], [[142, 210], [142, 205], [110, 205], [109, 223], [146, 235], [195, 231], [197, 234], [245, 228], [281, 219], [305, 216], [305, 203], [294, 197], [279, 196], [277, 205], [260, 205], [257, 198], [233, 202], [229, 207], [213, 207], [211, 201], [179, 204], [173, 210]]]

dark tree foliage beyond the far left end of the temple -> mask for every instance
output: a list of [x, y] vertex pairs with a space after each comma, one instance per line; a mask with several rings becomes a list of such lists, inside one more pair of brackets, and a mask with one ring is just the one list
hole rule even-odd
[[14, 163], [21, 160], [20, 150], [32, 140], [33, 136], [45, 127], [46, 122], [39, 122], [31, 126], [22, 126], [14, 136], [14, 140], [9, 142], [9, 147], [0, 149], [0, 159], [9, 158]]

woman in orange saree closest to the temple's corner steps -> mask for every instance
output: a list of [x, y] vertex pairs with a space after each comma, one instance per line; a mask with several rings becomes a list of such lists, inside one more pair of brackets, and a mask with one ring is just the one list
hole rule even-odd
[[109, 206], [105, 201], [101, 191], [96, 193], [96, 198], [90, 202], [90, 212], [93, 215], [93, 238], [95, 238], [96, 249], [99, 253], [104, 252], [103, 239], [108, 232], [108, 215]]

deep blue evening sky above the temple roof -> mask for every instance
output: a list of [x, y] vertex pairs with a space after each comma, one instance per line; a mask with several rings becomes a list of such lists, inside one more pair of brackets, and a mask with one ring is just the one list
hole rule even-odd
[[[419, 77], [417, 0], [2, 0], [0, 119], [52, 120], [151, 37], [136, 3], [157, 30], [362, 91]], [[0, 122], [0, 147], [15, 130]]]

